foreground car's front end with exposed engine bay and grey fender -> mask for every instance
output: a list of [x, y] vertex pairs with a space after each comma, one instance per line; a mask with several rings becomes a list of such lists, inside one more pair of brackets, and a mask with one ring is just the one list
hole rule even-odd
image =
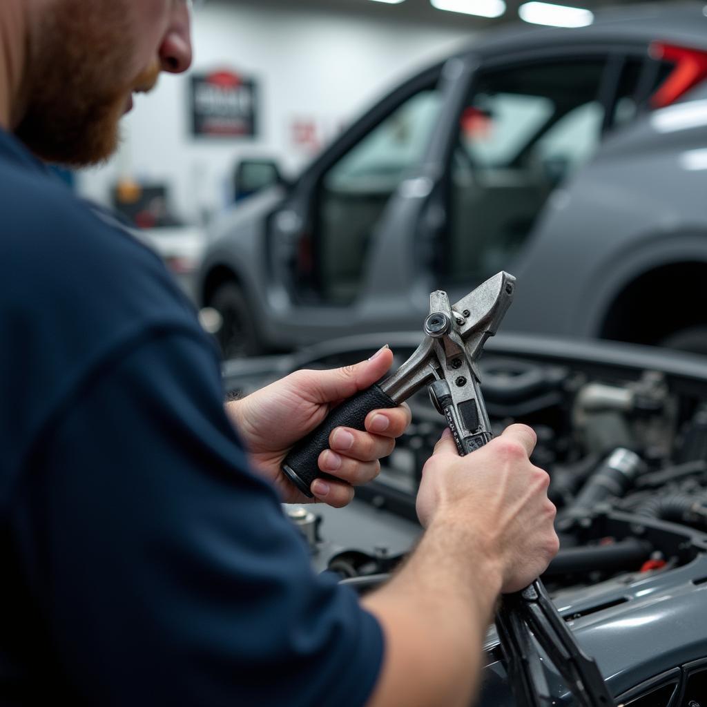
[[[399, 365], [419, 335], [396, 336], [390, 345]], [[379, 344], [380, 337], [332, 342], [280, 358], [274, 368], [262, 366], [261, 375], [234, 368], [225, 378], [230, 387], [247, 392], [248, 385], [259, 387], [267, 382], [263, 378], [279, 378], [288, 370], [360, 361]], [[541, 579], [580, 645], [596, 658], [614, 696], [636, 707], [672, 707], [691, 684], [704, 699], [707, 362], [609, 342], [499, 335], [486, 345], [479, 373], [493, 433], [513, 422], [537, 433], [532, 461], [550, 474], [548, 493], [558, 508], [561, 539], [559, 554]], [[384, 582], [421, 532], [416, 489], [445, 419], [424, 392], [408, 402], [411, 426], [382, 460], [378, 479], [356, 489], [358, 505], [343, 534], [341, 527], [335, 540], [329, 533], [330, 513], [288, 508], [315, 568], [334, 573], [359, 593]], [[366, 532], [375, 524], [395, 526], [395, 542], [371, 542]], [[493, 629], [486, 648], [480, 704], [514, 705], [507, 661]], [[548, 674], [547, 703], [573, 704], [552, 670]]]

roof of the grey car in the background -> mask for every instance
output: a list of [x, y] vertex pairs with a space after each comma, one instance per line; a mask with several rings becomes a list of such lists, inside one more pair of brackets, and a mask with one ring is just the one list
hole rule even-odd
[[630, 8], [606, 8], [595, 12], [587, 27], [547, 28], [514, 24], [489, 31], [457, 56], [520, 52], [552, 45], [597, 43], [633, 44], [665, 42], [695, 49], [707, 49], [707, 16], [703, 3], [638, 4]]

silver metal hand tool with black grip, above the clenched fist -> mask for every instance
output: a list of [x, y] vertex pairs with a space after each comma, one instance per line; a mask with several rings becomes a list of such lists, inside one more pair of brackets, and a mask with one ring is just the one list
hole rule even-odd
[[425, 338], [398, 370], [380, 383], [334, 408], [315, 431], [288, 454], [282, 470], [302, 493], [312, 498], [310, 486], [326, 477], [317, 465], [329, 448], [329, 435], [339, 426], [363, 430], [366, 415], [375, 409], [397, 407], [428, 386], [435, 407], [447, 418], [460, 455], [491, 439], [491, 427], [479, 389], [477, 360], [486, 339], [496, 329], [513, 300], [515, 278], [500, 272], [456, 304], [446, 292], [430, 295]]

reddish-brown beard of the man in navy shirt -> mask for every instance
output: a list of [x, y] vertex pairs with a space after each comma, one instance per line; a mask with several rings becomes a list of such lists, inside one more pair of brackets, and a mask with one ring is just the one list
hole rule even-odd
[[123, 77], [134, 42], [123, 0], [49, 4], [28, 47], [27, 109], [15, 134], [47, 162], [86, 166], [106, 160], [136, 86], [153, 86], [159, 66]]

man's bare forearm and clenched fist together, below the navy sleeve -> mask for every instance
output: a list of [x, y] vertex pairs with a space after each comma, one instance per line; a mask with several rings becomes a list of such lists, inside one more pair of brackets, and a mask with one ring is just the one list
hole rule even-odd
[[368, 707], [472, 702], [498, 593], [525, 588], [558, 549], [534, 445], [525, 425], [464, 457], [448, 431], [437, 443], [417, 496], [427, 530], [390, 583], [363, 599], [386, 650]]

